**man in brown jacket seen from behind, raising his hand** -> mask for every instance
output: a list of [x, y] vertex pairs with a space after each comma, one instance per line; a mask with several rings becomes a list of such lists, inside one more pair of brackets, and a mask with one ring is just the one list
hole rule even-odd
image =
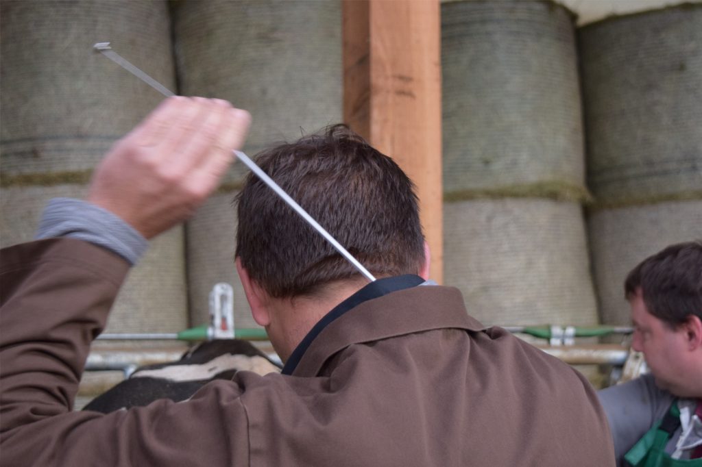
[[[214, 189], [211, 178], [223, 173], [247, 126], [218, 102], [167, 100], [96, 171], [91, 203], [79, 206], [80, 216], [101, 222], [81, 224], [65, 201], [55, 202], [41, 236], [76, 238], [3, 253], [3, 461], [614, 463], [588, 381], [508, 332], [483, 327], [458, 290], [428, 280], [410, 180], [343, 126], [265, 151], [258, 163], [378, 279], [368, 283], [249, 177], [239, 195], [237, 270], [254, 318], [285, 362], [282, 374], [237, 372], [184, 402], [71, 412], [91, 339], [138, 257], [134, 245], [185, 219]], [[125, 175], [127, 202], [119, 187]], [[110, 238], [95, 229], [105, 224]]]

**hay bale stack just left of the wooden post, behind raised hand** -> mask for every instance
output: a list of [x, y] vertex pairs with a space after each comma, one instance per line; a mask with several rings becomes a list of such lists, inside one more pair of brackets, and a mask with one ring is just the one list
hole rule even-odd
[[[173, 4], [181, 91], [230, 100], [253, 117], [244, 151], [295, 140], [342, 120], [341, 12], [336, 1], [179, 1]], [[193, 323], [217, 282], [234, 285], [235, 320], [252, 323], [236, 278], [230, 200], [248, 169], [237, 163], [221, 197], [187, 227]], [[251, 324], [253, 325], [253, 324]]]

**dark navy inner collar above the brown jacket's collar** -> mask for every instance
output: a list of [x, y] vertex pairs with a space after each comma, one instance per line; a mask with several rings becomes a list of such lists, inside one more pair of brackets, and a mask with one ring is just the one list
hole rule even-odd
[[283, 374], [293, 374], [295, 368], [300, 363], [300, 359], [305, 355], [305, 351], [312, 344], [312, 341], [319, 335], [325, 327], [329, 325], [333, 320], [342, 316], [347, 311], [359, 306], [363, 302], [368, 300], [376, 299], [378, 297], [383, 297], [383, 295], [388, 295], [390, 292], [397, 292], [397, 290], [409, 289], [410, 287], [416, 287], [424, 282], [423, 278], [415, 276], [413, 274], [405, 274], [404, 276], [388, 277], [383, 279], [378, 279], [366, 285], [361, 290], [356, 292], [351, 297], [348, 297], [343, 302], [335, 306], [329, 313], [326, 313], [324, 317], [317, 322], [312, 330], [307, 333], [305, 339], [303, 339], [300, 344], [295, 348], [291, 354], [288, 361], [283, 367]]

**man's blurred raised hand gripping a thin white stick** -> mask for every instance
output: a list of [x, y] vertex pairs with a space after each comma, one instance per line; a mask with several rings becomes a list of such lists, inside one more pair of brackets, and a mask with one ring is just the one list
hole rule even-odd
[[146, 238], [190, 217], [244, 144], [251, 116], [229, 102], [169, 97], [119, 140], [93, 174], [88, 201]]

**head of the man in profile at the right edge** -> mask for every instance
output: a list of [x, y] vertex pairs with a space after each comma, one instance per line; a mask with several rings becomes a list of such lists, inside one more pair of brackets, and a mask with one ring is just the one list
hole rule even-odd
[[624, 285], [634, 322], [632, 346], [658, 386], [702, 397], [702, 242], [678, 243], [648, 257]]

